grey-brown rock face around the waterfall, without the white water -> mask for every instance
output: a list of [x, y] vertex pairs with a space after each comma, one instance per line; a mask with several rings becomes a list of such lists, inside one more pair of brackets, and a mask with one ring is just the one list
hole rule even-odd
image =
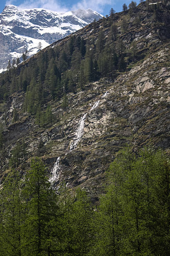
[[[169, 50], [163, 52], [168, 60]], [[45, 151], [40, 156], [49, 173], [60, 156], [55, 186], [65, 180], [70, 188], [79, 185], [90, 195], [99, 195], [104, 172], [120, 148], [132, 144], [138, 150], [148, 143], [165, 149], [170, 147], [170, 83], [166, 83], [170, 68], [159, 67], [160, 63], [157, 52], [147, 60], [145, 69], [142, 63], [115, 81], [103, 78], [87, 84], [86, 90], [76, 95], [69, 93], [66, 112], [60, 108], [61, 101], [53, 102], [55, 121], [45, 130], [35, 126], [34, 119], [26, 113], [20, 114], [20, 120], [4, 132], [7, 154], [17, 141], [25, 138], [30, 156], [35, 155], [42, 141]], [[146, 87], [146, 81], [150, 86]], [[12, 96], [8, 122], [12, 120], [10, 109], [22, 109], [23, 100], [23, 94]], [[98, 100], [97, 107], [90, 111]], [[85, 113], [82, 137], [70, 152], [70, 144], [77, 137]]]

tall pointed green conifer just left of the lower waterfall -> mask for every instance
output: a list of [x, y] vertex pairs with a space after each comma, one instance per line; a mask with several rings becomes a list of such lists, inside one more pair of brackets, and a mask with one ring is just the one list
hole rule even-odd
[[23, 194], [27, 211], [23, 255], [54, 255], [57, 251], [57, 196], [50, 186], [45, 166], [38, 158], [31, 161]]

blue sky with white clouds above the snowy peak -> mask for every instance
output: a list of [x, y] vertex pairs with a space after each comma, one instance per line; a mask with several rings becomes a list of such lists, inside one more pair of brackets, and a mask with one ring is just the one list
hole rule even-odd
[[60, 12], [91, 8], [102, 15], [107, 15], [111, 8], [118, 13], [122, 11], [124, 3], [129, 5], [130, 2], [131, 0], [0, 0], [0, 13], [5, 5], [13, 4], [22, 8], [46, 8]]

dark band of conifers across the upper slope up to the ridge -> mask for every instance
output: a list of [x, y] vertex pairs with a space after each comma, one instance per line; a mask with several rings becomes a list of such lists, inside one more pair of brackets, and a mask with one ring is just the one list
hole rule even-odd
[[[126, 11], [127, 6], [123, 6]], [[129, 7], [133, 15], [136, 3], [132, 1]], [[112, 22], [116, 16], [111, 9], [110, 17], [107, 15], [100, 21], [94, 20], [90, 25], [93, 32], [89, 38], [75, 34], [59, 41], [54, 48], [40, 51], [29, 61], [26, 61], [28, 53], [25, 51], [24, 63], [20, 65], [19, 59], [13, 60], [12, 64], [9, 61], [7, 72], [0, 74], [0, 101], [7, 103], [11, 94], [23, 90], [23, 111], [33, 115], [39, 127], [45, 127], [51, 121], [46, 120], [43, 106], [51, 99], [61, 100], [65, 94], [76, 93], [78, 88], [83, 90], [86, 83], [97, 81], [102, 76], [115, 77], [117, 69], [123, 72], [126, 69], [125, 59], [132, 62], [138, 58], [136, 50], [129, 54], [126, 49], [129, 45], [125, 47], [122, 40], [122, 31], [125, 33], [129, 27], [128, 16], [122, 19], [122, 24]], [[134, 19], [134, 25], [140, 26], [140, 15]]]

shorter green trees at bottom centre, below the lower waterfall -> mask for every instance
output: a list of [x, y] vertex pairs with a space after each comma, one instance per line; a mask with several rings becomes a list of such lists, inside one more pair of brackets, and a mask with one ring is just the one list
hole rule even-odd
[[93, 211], [87, 193], [77, 189], [75, 197], [63, 195], [63, 255], [88, 255], [93, 242]]

